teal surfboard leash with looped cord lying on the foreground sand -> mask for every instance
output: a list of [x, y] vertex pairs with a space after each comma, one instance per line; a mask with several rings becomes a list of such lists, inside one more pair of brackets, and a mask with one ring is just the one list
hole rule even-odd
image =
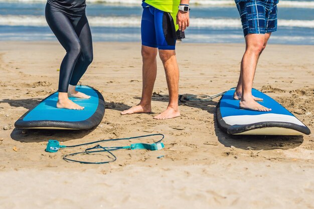
[[[95, 143], [101, 143], [101, 142], [108, 142], [108, 141], [119, 141], [119, 140], [132, 140], [132, 139], [138, 139], [138, 138], [147, 138], [150, 136], [161, 136], [161, 139], [158, 141], [152, 143], [152, 144], [146, 144], [146, 143], [133, 143], [128, 146], [113, 146], [113, 147], [106, 147], [106, 146], [101, 146], [100, 144], [97, 144], [94, 147], [90, 147], [85, 149], [85, 151], [82, 152], [75, 152], [71, 154], [66, 154], [64, 155], [63, 159], [67, 162], [72, 161], [72, 162], [79, 162], [82, 164], [104, 164], [104, 163], [109, 163], [109, 162], [114, 162], [117, 157], [113, 154], [113, 151], [119, 150], [119, 149], [146, 149], [146, 150], [161, 150], [165, 147], [164, 143], [162, 140], [165, 138], [164, 134], [149, 134], [149, 135], [143, 135], [143, 136], [134, 136], [134, 137], [128, 137], [128, 138], [117, 138], [117, 139], [102, 139], [98, 141], [92, 141], [88, 143], [83, 143], [83, 144], [76, 144], [76, 145], [60, 145], [60, 142], [57, 140], [49, 140], [46, 151], [47, 152], [57, 152], [59, 149], [66, 149], [66, 148], [73, 148], [73, 147], [78, 147], [78, 146], [85, 146], [85, 145], [90, 145], [90, 144], [95, 144]], [[89, 161], [80, 161], [80, 160], [75, 160], [69, 158], [70, 156], [75, 156], [75, 155], [84, 155], [84, 154], [91, 154], [91, 153], [96, 153], [96, 152], [107, 152], [109, 154], [109, 158], [111, 160], [108, 161], [101, 161], [101, 162], [89, 162]]]

